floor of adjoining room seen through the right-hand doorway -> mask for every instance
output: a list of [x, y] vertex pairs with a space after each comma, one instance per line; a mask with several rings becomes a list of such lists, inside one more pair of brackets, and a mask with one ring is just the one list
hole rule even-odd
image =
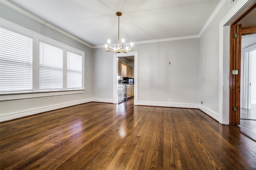
[[241, 132], [256, 141], [256, 104], [252, 104], [252, 109], [240, 109]]

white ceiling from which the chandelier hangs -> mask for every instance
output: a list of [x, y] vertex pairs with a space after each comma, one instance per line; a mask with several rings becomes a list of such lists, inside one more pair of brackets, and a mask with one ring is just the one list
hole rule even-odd
[[9, 0], [92, 46], [198, 35], [220, 0]]

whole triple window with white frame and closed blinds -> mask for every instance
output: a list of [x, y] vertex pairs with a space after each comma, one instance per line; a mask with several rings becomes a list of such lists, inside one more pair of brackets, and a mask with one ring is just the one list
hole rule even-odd
[[84, 93], [84, 51], [0, 23], [0, 101]]

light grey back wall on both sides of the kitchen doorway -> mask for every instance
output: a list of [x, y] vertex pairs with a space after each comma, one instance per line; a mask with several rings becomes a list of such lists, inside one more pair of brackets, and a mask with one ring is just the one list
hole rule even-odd
[[[137, 44], [133, 51], [138, 51], [138, 104], [198, 108], [199, 39]], [[102, 101], [113, 100], [112, 57], [94, 49], [93, 95]]]

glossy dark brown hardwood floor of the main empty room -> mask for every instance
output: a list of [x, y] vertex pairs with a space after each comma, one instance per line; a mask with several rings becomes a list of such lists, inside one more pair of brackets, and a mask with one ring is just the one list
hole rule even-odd
[[256, 169], [256, 142], [199, 109], [90, 102], [0, 123], [0, 169]]

